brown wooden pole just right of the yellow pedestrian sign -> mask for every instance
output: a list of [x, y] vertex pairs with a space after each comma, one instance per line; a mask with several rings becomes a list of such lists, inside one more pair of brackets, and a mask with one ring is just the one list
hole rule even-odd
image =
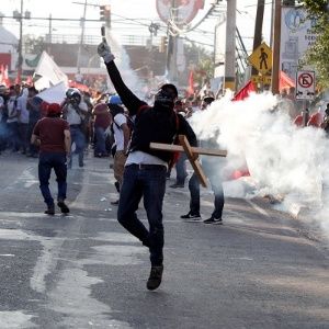
[[277, 94], [280, 80], [281, 0], [274, 0], [272, 92]]

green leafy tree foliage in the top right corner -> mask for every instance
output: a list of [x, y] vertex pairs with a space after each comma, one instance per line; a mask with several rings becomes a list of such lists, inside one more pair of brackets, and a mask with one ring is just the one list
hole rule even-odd
[[329, 4], [328, 0], [304, 0], [302, 2], [309, 16], [316, 19], [317, 41], [306, 53], [303, 64], [311, 65], [317, 71], [317, 80], [322, 88], [329, 87]]

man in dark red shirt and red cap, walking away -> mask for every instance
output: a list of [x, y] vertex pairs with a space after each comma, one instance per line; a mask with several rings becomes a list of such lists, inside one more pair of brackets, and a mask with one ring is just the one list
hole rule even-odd
[[61, 213], [69, 213], [65, 204], [67, 191], [67, 156], [70, 152], [70, 127], [66, 120], [60, 118], [61, 107], [52, 103], [47, 106], [47, 116], [34, 126], [31, 144], [39, 146], [38, 180], [39, 189], [47, 204], [45, 214], [55, 215], [54, 198], [49, 190], [49, 178], [54, 169], [58, 185], [57, 205]]

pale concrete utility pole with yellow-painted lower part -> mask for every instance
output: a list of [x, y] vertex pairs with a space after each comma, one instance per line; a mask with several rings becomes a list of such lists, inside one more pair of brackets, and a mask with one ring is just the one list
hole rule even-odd
[[237, 0], [227, 0], [224, 89], [236, 90], [236, 18]]

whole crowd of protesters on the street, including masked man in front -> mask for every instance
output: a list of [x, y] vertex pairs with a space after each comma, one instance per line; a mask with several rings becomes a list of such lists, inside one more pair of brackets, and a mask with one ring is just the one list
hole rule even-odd
[[[217, 95], [203, 91], [181, 98], [175, 86], [164, 83], [154, 95], [152, 104], [148, 104], [122, 80], [105, 39], [98, 52], [104, 59], [116, 94], [91, 94], [69, 88], [60, 104], [48, 104], [33, 86], [0, 87], [0, 151], [38, 158], [39, 188], [47, 204], [47, 215], [55, 214], [54, 197], [48, 188], [52, 169], [58, 183], [57, 205], [66, 214], [69, 213], [65, 203], [67, 170], [73, 167], [73, 156], [80, 168], [84, 167], [84, 154], [90, 146], [94, 157], [113, 156], [112, 168], [120, 197], [112, 203], [117, 205], [117, 220], [149, 249], [151, 271], [147, 288], [156, 290], [163, 272], [166, 181], [173, 166], [177, 177], [170, 188], [184, 188], [189, 174], [185, 154], [180, 154], [173, 162], [173, 152], [151, 149], [150, 143], [173, 144], [178, 135], [185, 135], [191, 146], [218, 147], [212, 144], [213, 140], [197, 140], [190, 125], [191, 116], [197, 111], [206, 111]], [[282, 109], [286, 106], [293, 121], [298, 111], [292, 94], [282, 94], [281, 100]], [[326, 114], [329, 114], [329, 106]], [[220, 175], [214, 171], [217, 159], [204, 157], [201, 161], [214, 192], [214, 211], [203, 223], [223, 224], [225, 197]], [[189, 180], [189, 191], [190, 208], [181, 218], [201, 220], [200, 181], [195, 173]], [[136, 213], [141, 198], [148, 227]]]

